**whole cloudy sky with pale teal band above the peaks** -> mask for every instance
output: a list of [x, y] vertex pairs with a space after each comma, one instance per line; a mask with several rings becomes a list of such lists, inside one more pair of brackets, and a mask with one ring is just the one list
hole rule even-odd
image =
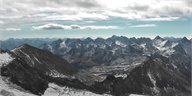
[[192, 38], [191, 0], [0, 0], [0, 39]]

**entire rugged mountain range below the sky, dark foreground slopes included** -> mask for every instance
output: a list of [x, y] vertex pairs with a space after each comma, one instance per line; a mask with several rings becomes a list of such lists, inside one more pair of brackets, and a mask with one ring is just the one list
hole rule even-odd
[[[1, 42], [8, 46], [14, 40]], [[10, 91], [13, 85], [25, 96], [44, 95], [52, 84], [94, 96], [191, 95], [191, 40], [186, 37], [112, 36], [39, 42], [1, 47], [0, 84], [8, 86], [0, 88], [1, 95], [16, 95]], [[56, 91], [63, 96], [65, 92]]]

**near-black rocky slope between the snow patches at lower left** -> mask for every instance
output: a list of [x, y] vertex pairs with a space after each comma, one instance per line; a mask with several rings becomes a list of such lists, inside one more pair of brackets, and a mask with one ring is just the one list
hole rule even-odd
[[28, 66], [22, 59], [14, 59], [1, 68], [1, 75], [32, 93], [40, 95], [48, 87], [48, 82], [41, 77], [40, 71]]

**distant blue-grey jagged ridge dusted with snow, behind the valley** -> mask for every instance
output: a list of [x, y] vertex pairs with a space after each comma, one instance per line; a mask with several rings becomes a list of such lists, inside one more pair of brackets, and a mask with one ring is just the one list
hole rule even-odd
[[76, 66], [87, 68], [118, 64], [119, 59], [124, 61], [121, 63], [126, 64], [141, 63], [146, 56], [154, 53], [170, 56], [175, 52], [175, 46], [182, 46], [187, 51], [190, 49], [179, 42], [172, 42], [160, 36], [153, 40], [124, 36], [112, 36], [107, 39], [59, 39], [40, 48], [57, 54]]

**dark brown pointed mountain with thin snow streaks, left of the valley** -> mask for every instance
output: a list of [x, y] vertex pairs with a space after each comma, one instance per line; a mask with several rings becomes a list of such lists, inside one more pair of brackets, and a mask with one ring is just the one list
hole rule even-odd
[[16, 48], [13, 53], [22, 58], [26, 64], [40, 70], [44, 74], [46, 72], [50, 73], [52, 70], [57, 70], [64, 75], [72, 75], [76, 72], [75, 68], [66, 60], [26, 44]]

